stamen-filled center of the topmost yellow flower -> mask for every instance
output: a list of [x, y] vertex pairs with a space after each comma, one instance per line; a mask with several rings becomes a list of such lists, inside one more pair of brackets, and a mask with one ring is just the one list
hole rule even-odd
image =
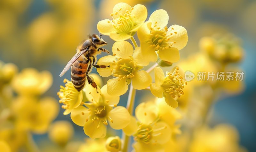
[[[120, 11], [122, 8], [120, 8]], [[113, 16], [114, 14], [110, 14]], [[132, 27], [136, 26], [134, 23], [134, 15], [131, 14], [131, 11], [126, 10], [124, 14], [116, 12], [115, 15], [118, 15], [118, 18], [112, 20], [113, 26], [117, 29], [118, 33], [130, 34]]]

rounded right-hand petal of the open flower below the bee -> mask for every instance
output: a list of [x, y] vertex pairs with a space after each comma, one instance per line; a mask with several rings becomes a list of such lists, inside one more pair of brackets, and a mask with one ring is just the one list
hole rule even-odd
[[131, 121], [131, 115], [128, 110], [122, 106], [117, 106], [108, 113], [113, 122], [108, 122], [113, 129], [123, 129]]

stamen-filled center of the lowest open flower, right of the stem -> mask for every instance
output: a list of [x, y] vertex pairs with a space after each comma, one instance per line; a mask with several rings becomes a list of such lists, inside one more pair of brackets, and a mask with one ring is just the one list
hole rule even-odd
[[144, 143], [149, 143], [152, 137], [153, 129], [150, 125], [141, 124], [137, 133], [135, 134], [135, 139]]

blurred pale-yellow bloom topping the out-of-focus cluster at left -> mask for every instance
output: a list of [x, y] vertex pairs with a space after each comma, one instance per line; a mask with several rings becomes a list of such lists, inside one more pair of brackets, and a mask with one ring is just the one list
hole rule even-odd
[[12, 81], [12, 87], [20, 95], [42, 95], [52, 86], [52, 74], [38, 72], [34, 68], [23, 69]]

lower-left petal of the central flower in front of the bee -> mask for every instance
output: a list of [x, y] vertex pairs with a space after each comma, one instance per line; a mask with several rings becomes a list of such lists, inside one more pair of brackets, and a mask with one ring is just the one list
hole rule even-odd
[[118, 81], [117, 78], [113, 78], [108, 80], [107, 87], [108, 87], [108, 94], [113, 96], [119, 96], [125, 94], [128, 89], [128, 85], [125, 79], [121, 79]]

